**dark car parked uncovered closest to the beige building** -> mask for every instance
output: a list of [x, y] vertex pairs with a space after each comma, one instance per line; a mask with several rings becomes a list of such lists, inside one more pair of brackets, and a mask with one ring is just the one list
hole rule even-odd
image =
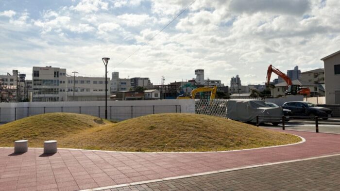
[[304, 101], [290, 101], [283, 104], [282, 108], [291, 111], [292, 116], [309, 116], [309, 117], [322, 117], [328, 119], [332, 116], [332, 110], [328, 108], [318, 107], [315, 104]]

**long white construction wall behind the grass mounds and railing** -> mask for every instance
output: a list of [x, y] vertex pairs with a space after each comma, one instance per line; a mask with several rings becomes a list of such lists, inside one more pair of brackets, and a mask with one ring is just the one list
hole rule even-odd
[[[175, 107], [176, 105], [177, 107]], [[79, 110], [81, 110], [82, 114], [98, 116], [98, 113], [100, 113], [99, 117], [104, 118], [104, 106], [105, 101], [0, 103], [0, 123], [7, 123], [15, 119], [41, 114], [44, 113], [44, 110], [46, 113], [61, 112], [61, 107], [63, 107], [63, 112], [79, 113]], [[177, 112], [183, 113], [195, 112], [194, 99], [107, 101], [107, 106], [108, 119], [119, 121], [131, 118], [131, 106], [133, 106], [133, 117], [152, 114], [153, 106], [155, 106], [155, 113], [176, 112], [176, 109]]]

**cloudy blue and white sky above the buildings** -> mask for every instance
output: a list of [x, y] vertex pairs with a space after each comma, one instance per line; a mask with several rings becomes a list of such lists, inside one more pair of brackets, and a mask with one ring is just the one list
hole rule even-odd
[[225, 85], [263, 84], [269, 64], [323, 68], [340, 50], [339, 10], [339, 0], [0, 0], [0, 74], [32, 79], [51, 65], [99, 77], [109, 57], [108, 76], [160, 84], [204, 69]]

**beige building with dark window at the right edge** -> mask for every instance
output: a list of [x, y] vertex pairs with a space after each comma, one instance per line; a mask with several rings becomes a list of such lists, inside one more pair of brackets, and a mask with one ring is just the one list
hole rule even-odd
[[324, 64], [326, 104], [340, 104], [340, 50], [321, 60]]

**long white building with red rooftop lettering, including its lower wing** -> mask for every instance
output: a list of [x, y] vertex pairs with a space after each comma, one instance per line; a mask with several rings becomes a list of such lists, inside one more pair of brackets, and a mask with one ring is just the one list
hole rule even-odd
[[[105, 99], [105, 78], [67, 76], [65, 68], [33, 67], [32, 101], [97, 101]], [[107, 83], [110, 81], [107, 78]], [[109, 88], [109, 86], [108, 86]], [[110, 96], [110, 93], [107, 94]]]

